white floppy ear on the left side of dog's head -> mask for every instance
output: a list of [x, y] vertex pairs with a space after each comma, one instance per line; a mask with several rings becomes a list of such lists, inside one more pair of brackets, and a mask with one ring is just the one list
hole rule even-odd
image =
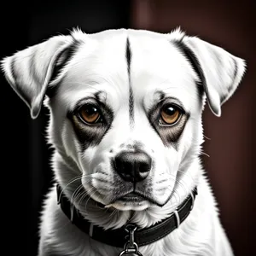
[[55, 67], [64, 61], [71, 44], [71, 36], [56, 36], [3, 59], [5, 78], [30, 108], [32, 119], [38, 117]]

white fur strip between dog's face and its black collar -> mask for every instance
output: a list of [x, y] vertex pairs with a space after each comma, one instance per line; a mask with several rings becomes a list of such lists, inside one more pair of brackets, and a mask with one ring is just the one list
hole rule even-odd
[[[96, 201], [90, 200], [88, 196], [82, 200], [82, 195], [79, 194], [77, 189], [81, 185], [80, 178], [76, 179], [76, 177], [81, 176], [79, 168], [66, 154], [55, 152], [54, 158], [56, 163], [56, 166], [54, 166], [55, 179], [57, 183], [61, 184], [63, 193], [69, 199], [72, 199], [75, 207], [79, 209], [84, 218], [88, 219], [92, 224], [102, 226], [104, 229], [117, 229], [128, 221], [137, 224], [140, 228], [146, 228], [168, 218], [197, 185], [198, 177], [201, 176], [202, 172], [198, 158], [188, 160], [183, 164], [181, 174], [177, 177], [177, 183], [174, 188], [175, 193], [173, 193], [172, 198], [164, 207], [153, 205], [144, 211], [119, 211], [113, 208], [101, 207], [96, 204]], [[59, 173], [60, 170], [61, 173]], [[75, 197], [77, 197], [76, 200]]]

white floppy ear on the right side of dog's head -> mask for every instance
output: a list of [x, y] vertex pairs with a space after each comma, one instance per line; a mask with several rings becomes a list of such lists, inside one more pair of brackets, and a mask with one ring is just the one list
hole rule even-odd
[[177, 44], [201, 79], [209, 107], [220, 116], [221, 105], [232, 96], [241, 82], [245, 61], [200, 38], [184, 36], [183, 33], [180, 35], [182, 38]]

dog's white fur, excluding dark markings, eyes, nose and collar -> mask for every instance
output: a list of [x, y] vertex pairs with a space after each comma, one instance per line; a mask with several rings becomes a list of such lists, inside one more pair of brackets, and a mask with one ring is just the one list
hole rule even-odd
[[[125, 60], [127, 37], [131, 44], [131, 87], [134, 97], [132, 127]], [[183, 44], [195, 52], [201, 64], [207, 81], [206, 95], [201, 101], [195, 86], [195, 80], [200, 81], [200, 78], [172, 44], [174, 40], [183, 40]], [[60, 64], [60, 53], [74, 41], [79, 41], [79, 50], [66, 63], [59, 76], [50, 81], [53, 67]], [[14, 58], [15, 67], [12, 67]], [[213, 113], [220, 115], [221, 104], [230, 98], [241, 81], [245, 71], [244, 61], [199, 38], [188, 37], [179, 29], [169, 34], [134, 30], [84, 34], [76, 30], [71, 36], [50, 38], [20, 51], [5, 58], [2, 64], [3, 72], [15, 91], [21, 97], [22, 93], [26, 93], [30, 99], [27, 102], [22, 97], [31, 108], [32, 118], [38, 115], [47, 86], [59, 86], [57, 94], [44, 102], [50, 111], [49, 143], [55, 148], [52, 167], [55, 181], [61, 184], [63, 193], [73, 201], [84, 218], [105, 229], [115, 229], [123, 226], [131, 218], [131, 213], [135, 212], [132, 222], [141, 228], [148, 227], [170, 216], [197, 185], [198, 195], [189, 217], [170, 235], [140, 247], [140, 252], [145, 256], [233, 255], [199, 159], [204, 142], [201, 113], [207, 98]], [[12, 68], [15, 68], [16, 76]], [[34, 73], [30, 72], [32, 68]], [[235, 69], [236, 77], [233, 76]], [[32, 76], [35, 73], [36, 78]], [[80, 153], [73, 126], [67, 120], [67, 110], [99, 90], [104, 91], [102, 98], [113, 109], [111, 129], [99, 144]], [[157, 90], [164, 90], [167, 96], [177, 98], [190, 114], [179, 137], [178, 149], [166, 147], [148, 122], [146, 113], [157, 101]], [[108, 206], [111, 191], [123, 182], [113, 173], [110, 159], [120, 152], [122, 144], [128, 147], [135, 141], [143, 143], [143, 150], [154, 159], [154, 170], [148, 177], [152, 183], [147, 185], [154, 191], [155, 201], [163, 203], [172, 193], [163, 207], [149, 201], [127, 205], [117, 201]], [[75, 177], [79, 178], [71, 182]], [[88, 197], [82, 200], [76, 190], [81, 181], [83, 189], [94, 201], [109, 208], [96, 207]], [[118, 182], [113, 184], [113, 181]], [[55, 188], [50, 189], [42, 213], [39, 256], [52, 253], [99, 256], [118, 255], [119, 252], [119, 248], [91, 240], [71, 224], [57, 205]]]

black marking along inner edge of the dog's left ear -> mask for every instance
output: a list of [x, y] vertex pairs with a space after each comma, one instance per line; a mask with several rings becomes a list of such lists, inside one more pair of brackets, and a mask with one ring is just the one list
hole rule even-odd
[[[56, 58], [55, 63], [58, 63], [61, 59], [61, 63], [58, 63], [58, 65], [55, 65], [55, 68], [53, 70], [53, 73], [51, 75], [51, 81], [56, 79], [58, 75], [61, 73], [62, 69], [66, 66], [68, 61], [71, 61], [73, 56], [77, 53], [79, 50], [79, 47], [82, 43], [76, 39], [73, 38], [73, 44], [71, 44], [67, 49], [64, 49], [60, 55]], [[57, 90], [59, 86], [58, 84], [55, 84], [55, 86], [49, 86], [46, 90], [46, 95], [49, 96], [49, 98], [52, 98], [56, 95]]]

